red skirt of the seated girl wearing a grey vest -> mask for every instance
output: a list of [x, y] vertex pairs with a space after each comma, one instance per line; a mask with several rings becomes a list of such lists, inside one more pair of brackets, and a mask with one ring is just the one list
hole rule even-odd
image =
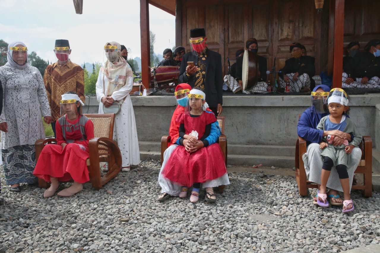
[[86, 164], [89, 158], [87, 150], [88, 147], [76, 143], [69, 143], [63, 149], [57, 144], [47, 144], [38, 157], [33, 175], [46, 182], [51, 182], [50, 177], [58, 177], [63, 182], [73, 179], [78, 183], [86, 183], [90, 180]]

